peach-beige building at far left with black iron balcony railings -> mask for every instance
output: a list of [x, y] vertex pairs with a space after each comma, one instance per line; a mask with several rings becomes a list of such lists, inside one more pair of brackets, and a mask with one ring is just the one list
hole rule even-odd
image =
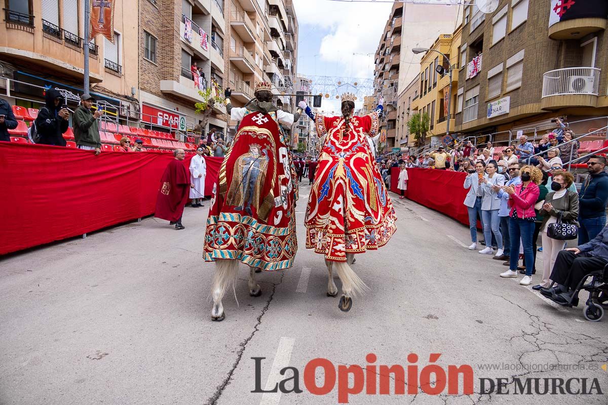
[[84, 47], [89, 47], [91, 93], [114, 107], [120, 121], [137, 120], [140, 109], [137, 19], [114, 12], [114, 43], [84, 39], [84, 0], [10, 0], [0, 23], [0, 95], [11, 104], [40, 108], [44, 91], [57, 88], [74, 109], [83, 94]]

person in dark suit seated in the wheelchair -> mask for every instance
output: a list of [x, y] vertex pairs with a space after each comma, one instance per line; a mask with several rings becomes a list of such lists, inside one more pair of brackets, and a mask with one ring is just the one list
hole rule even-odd
[[541, 288], [541, 293], [561, 305], [578, 305], [579, 284], [584, 277], [601, 272], [608, 264], [608, 225], [595, 239], [558, 253], [551, 271], [554, 285]]

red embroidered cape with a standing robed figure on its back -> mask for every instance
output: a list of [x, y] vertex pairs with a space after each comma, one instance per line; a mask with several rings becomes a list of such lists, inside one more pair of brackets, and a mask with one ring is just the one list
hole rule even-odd
[[237, 259], [262, 270], [291, 267], [297, 251], [294, 179], [276, 113], [245, 115], [213, 187], [205, 260]]

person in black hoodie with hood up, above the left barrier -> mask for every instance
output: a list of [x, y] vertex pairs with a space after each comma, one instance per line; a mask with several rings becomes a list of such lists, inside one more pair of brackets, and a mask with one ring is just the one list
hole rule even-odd
[[69, 111], [63, 108], [63, 95], [57, 89], [46, 90], [45, 106], [38, 111], [36, 131], [43, 145], [66, 146], [63, 138], [67, 131]]

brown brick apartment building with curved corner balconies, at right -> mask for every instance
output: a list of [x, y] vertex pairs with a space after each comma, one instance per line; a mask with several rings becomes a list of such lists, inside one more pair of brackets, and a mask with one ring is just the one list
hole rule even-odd
[[[501, 0], [484, 14], [465, 9], [459, 50], [456, 124], [494, 140], [608, 114], [608, 2], [589, 0], [570, 15], [551, 0]], [[580, 9], [579, 9], [580, 10]], [[581, 123], [575, 132], [601, 128]]]

